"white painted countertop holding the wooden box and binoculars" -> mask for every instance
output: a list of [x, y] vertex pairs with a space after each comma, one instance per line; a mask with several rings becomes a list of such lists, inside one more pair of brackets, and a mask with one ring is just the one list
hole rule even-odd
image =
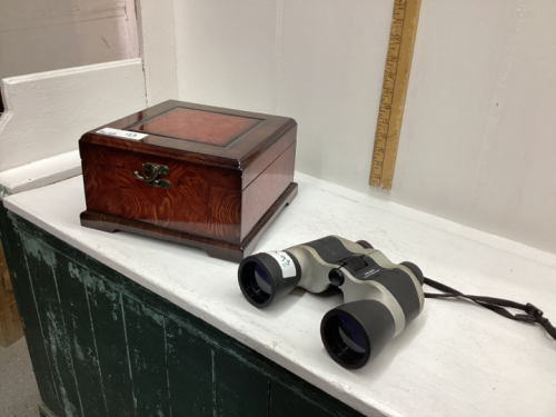
[[[556, 324], [556, 256], [297, 175], [299, 196], [256, 251], [327, 235], [368, 240], [390, 260], [474, 295], [532, 302]], [[296, 289], [251, 307], [237, 265], [203, 251], [79, 224], [82, 178], [8, 196], [8, 209], [370, 416], [555, 416], [556, 341], [466, 301], [426, 300], [423, 314], [363, 369], [327, 355], [322, 316], [341, 297]], [[429, 288], [425, 288], [427, 291]]]

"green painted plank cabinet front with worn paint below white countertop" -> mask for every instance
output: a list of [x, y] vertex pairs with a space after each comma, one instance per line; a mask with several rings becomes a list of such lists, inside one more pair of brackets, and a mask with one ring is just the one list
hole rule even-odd
[[43, 416], [361, 416], [0, 208]]

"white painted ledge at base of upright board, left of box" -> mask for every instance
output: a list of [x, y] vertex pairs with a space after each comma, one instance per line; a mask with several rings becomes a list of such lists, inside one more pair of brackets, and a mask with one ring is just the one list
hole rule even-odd
[[0, 172], [0, 201], [7, 196], [81, 175], [79, 150]]

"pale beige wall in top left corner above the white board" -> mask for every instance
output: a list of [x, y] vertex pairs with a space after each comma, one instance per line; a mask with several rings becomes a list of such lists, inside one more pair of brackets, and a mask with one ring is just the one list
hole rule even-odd
[[0, 0], [0, 79], [138, 56], [133, 0]]

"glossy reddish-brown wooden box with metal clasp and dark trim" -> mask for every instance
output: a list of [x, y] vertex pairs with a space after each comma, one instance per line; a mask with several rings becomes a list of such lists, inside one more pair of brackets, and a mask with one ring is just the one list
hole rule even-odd
[[294, 119], [166, 101], [79, 140], [81, 225], [240, 261], [297, 196]]

